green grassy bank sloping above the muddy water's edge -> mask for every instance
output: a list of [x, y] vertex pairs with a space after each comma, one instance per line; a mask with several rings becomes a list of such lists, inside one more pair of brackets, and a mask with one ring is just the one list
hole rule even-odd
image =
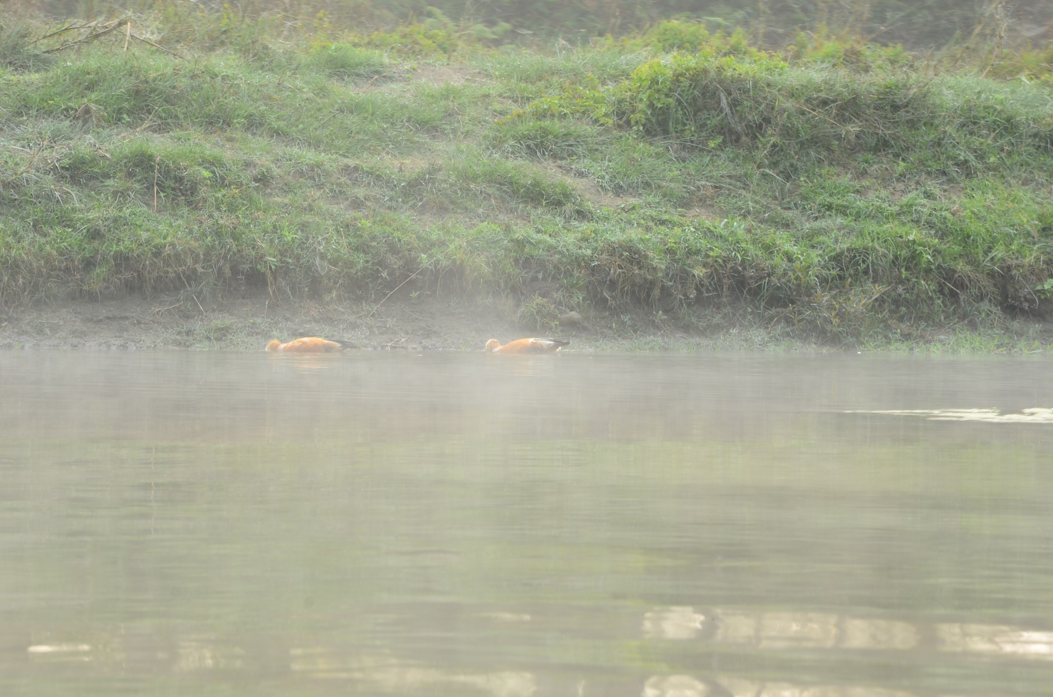
[[880, 345], [1053, 304], [1041, 52], [63, 26], [0, 29], [2, 306], [397, 288]]

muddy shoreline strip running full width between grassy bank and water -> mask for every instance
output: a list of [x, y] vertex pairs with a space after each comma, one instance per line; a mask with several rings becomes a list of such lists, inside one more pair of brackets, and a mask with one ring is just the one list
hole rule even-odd
[[262, 292], [215, 299], [126, 296], [0, 308], [0, 348], [262, 351], [271, 339], [322, 336], [354, 341], [363, 351], [481, 351], [489, 338], [541, 335], [570, 338], [572, 351], [1037, 353], [1053, 345], [1053, 322], [1041, 320], [979, 332], [933, 330], [910, 343], [834, 346], [749, 318], [729, 321], [726, 314], [691, 326], [644, 311], [593, 312], [568, 325], [537, 327], [517, 316], [514, 303], [494, 299], [392, 298], [378, 304], [276, 300]]

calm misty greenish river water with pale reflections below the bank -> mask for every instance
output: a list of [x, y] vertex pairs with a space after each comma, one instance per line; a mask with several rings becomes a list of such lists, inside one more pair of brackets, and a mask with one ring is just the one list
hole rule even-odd
[[0, 353], [0, 695], [1053, 695], [1053, 361]]

